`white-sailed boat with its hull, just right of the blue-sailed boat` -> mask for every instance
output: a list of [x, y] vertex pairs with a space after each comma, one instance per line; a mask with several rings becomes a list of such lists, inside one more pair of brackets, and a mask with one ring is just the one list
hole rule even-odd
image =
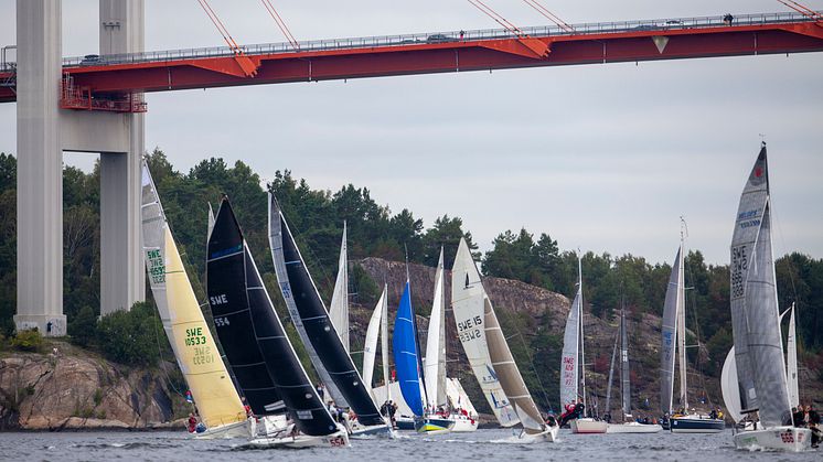
[[[429, 318], [429, 331], [426, 340], [426, 396], [427, 408], [429, 413], [435, 413], [438, 409], [449, 407], [449, 397], [447, 395], [446, 378], [446, 281], [443, 268], [443, 249], [440, 247], [440, 258], [438, 259], [437, 270], [435, 272], [435, 296], [431, 304], [431, 316]], [[477, 419], [472, 418], [460, 410], [449, 412], [442, 417], [452, 420], [455, 426], [451, 431], [474, 431], [478, 428]]]

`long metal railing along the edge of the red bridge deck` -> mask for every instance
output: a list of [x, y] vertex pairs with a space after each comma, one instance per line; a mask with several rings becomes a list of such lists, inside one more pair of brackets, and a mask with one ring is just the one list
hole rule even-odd
[[[585, 34], [609, 34], [624, 33], [637, 31], [667, 31], [683, 29], [702, 29], [718, 26], [742, 26], [742, 25], [768, 25], [785, 22], [812, 22], [801, 13], [759, 13], [741, 14], [734, 17], [731, 23], [726, 22], [724, 17], [697, 17], [697, 18], [673, 18], [641, 21], [617, 21], [617, 22], [595, 22], [571, 25], [574, 31], [564, 31], [556, 25], [523, 28], [522, 31], [535, 37], [558, 36], [558, 35], [585, 35]], [[382, 35], [352, 39], [330, 39], [330, 40], [311, 40], [298, 42], [299, 51], [332, 51], [332, 50], [352, 50], [366, 47], [385, 47], [419, 45], [431, 43], [448, 42], [473, 42], [481, 40], [513, 39], [515, 35], [505, 29], [483, 29], [472, 31], [450, 31], [450, 32], [431, 32], [417, 34], [400, 35]], [[280, 54], [295, 53], [296, 50], [290, 43], [265, 43], [241, 46], [243, 53], [247, 55], [259, 54]], [[184, 49], [170, 51], [156, 51], [142, 53], [111, 54], [111, 55], [86, 55], [77, 57], [66, 57], [63, 65], [73, 66], [100, 66], [115, 64], [136, 64], [147, 62], [165, 62], [180, 60], [195, 60], [205, 57], [233, 56], [235, 53], [227, 46], [214, 46], [203, 49]]]

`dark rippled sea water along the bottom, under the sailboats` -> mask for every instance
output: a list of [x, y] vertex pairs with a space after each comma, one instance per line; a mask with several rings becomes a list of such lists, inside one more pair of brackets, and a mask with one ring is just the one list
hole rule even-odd
[[[244, 440], [197, 441], [179, 432], [0, 433], [2, 461], [823, 461], [803, 454], [736, 451], [719, 434], [571, 434], [555, 443], [506, 443], [509, 430], [478, 430], [397, 440], [352, 440], [346, 449], [259, 450]], [[493, 442], [494, 441], [494, 442]]]

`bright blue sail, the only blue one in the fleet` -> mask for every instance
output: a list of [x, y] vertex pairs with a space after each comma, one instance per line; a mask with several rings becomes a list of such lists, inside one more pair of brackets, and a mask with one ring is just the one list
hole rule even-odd
[[415, 416], [423, 416], [423, 397], [420, 394], [420, 370], [417, 361], [417, 343], [415, 341], [414, 311], [412, 310], [412, 294], [408, 281], [403, 289], [397, 318], [394, 320], [394, 364], [397, 369], [397, 382], [400, 384], [403, 399]]

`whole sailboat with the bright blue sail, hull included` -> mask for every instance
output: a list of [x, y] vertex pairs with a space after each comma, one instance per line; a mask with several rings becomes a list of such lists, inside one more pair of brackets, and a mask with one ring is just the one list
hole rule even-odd
[[427, 398], [426, 375], [419, 354], [419, 339], [417, 336], [417, 322], [412, 309], [412, 291], [408, 278], [403, 288], [400, 304], [397, 307], [397, 316], [394, 322], [394, 335], [392, 337], [392, 351], [394, 352], [394, 364], [397, 370], [397, 382], [400, 387], [403, 399], [414, 412], [415, 430], [420, 433], [446, 433], [451, 430], [455, 422], [438, 418], [425, 409]]

